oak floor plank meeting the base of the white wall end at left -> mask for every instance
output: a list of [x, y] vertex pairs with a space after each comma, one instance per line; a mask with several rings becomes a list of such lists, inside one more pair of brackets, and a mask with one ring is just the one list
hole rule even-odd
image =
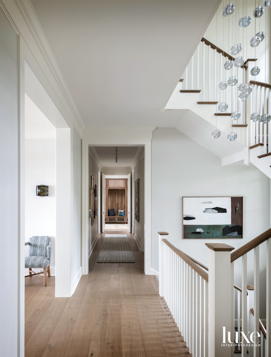
[[43, 355], [68, 300], [68, 297], [54, 298], [25, 345], [25, 357]]

